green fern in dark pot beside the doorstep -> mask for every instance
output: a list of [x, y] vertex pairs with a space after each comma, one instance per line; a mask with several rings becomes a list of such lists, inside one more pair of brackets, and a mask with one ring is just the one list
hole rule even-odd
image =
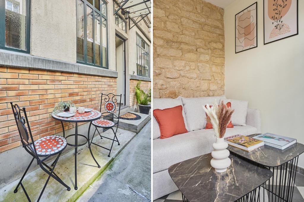
[[147, 93], [140, 89], [141, 81], [137, 82], [135, 86], [136, 100], [139, 106], [139, 112], [143, 114], [149, 114], [151, 108], [151, 88]]

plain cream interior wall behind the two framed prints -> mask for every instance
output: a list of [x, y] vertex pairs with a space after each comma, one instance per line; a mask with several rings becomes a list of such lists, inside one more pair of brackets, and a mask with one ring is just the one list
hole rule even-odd
[[[257, 1], [258, 47], [235, 54], [235, 14]], [[261, 110], [262, 133], [304, 143], [304, 1], [299, 0], [299, 35], [264, 45], [263, 0], [236, 0], [226, 7], [225, 94]], [[271, 158], [271, 157], [270, 157]], [[299, 158], [304, 167], [304, 155]]]

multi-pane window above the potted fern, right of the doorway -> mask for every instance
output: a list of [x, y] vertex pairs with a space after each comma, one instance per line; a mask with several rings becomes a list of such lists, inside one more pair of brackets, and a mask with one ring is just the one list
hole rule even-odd
[[136, 34], [137, 75], [150, 77], [150, 46]]

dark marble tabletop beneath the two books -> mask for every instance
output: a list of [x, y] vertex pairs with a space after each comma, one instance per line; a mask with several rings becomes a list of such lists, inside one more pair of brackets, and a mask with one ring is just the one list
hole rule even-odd
[[[257, 135], [260, 134], [252, 134], [248, 135], [248, 137], [254, 137]], [[232, 153], [238, 154], [263, 166], [277, 167], [303, 153], [304, 145], [301, 143], [295, 143], [285, 150], [280, 150], [272, 146], [264, 145], [250, 152], [230, 145], [228, 145], [227, 149]]]

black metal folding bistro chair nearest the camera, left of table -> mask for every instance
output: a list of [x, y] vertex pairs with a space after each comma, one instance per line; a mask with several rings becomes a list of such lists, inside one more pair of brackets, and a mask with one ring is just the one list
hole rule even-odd
[[[18, 187], [19, 187], [19, 185], [21, 185], [21, 187], [26, 195], [26, 198], [29, 201], [31, 201], [29, 198], [29, 195], [26, 193], [26, 190], [22, 184], [22, 180], [23, 180], [24, 176], [26, 175], [27, 171], [29, 170], [29, 167], [33, 163], [34, 159], [37, 160], [37, 165], [39, 165], [41, 167], [41, 169], [49, 175], [49, 177], [47, 178], [47, 182], [44, 184], [44, 187], [43, 187], [37, 201], [40, 200], [40, 198], [43, 194], [43, 191], [44, 191], [45, 187], [47, 186], [47, 183], [50, 180], [50, 177], [53, 177], [60, 184], [62, 184], [64, 187], [66, 187], [68, 191], [70, 191], [71, 188], [69, 186], [67, 186], [54, 172], [54, 168], [56, 166], [56, 163], [57, 163], [62, 151], [67, 147], [67, 140], [64, 137], [61, 137], [58, 135], [49, 135], [49, 136], [45, 136], [45, 137], [42, 137], [42, 138], [34, 141], [33, 135], [32, 135], [32, 132], [31, 132], [31, 129], [29, 126], [29, 120], [27, 119], [25, 107], [20, 109], [20, 107], [17, 104], [13, 105], [12, 102], [11, 102], [11, 106], [12, 106], [13, 114], [14, 114], [15, 121], [17, 124], [17, 128], [19, 131], [19, 135], [21, 138], [22, 146], [30, 155], [33, 156], [33, 159], [29, 163], [29, 166], [26, 168], [16, 189], [14, 190], [14, 193], [17, 193]], [[25, 117], [21, 115], [22, 112], [24, 113]], [[25, 124], [27, 124], [27, 128], [26, 128]], [[30, 138], [30, 140], [29, 140], [29, 138]], [[46, 163], [44, 163], [44, 161], [47, 160], [49, 157], [57, 155], [57, 154], [58, 154], [57, 158], [52, 163], [52, 165], [54, 165], [52, 168], [49, 167]], [[40, 157], [42, 157], [42, 159], [40, 159]], [[44, 166], [47, 168], [45, 168]]]

